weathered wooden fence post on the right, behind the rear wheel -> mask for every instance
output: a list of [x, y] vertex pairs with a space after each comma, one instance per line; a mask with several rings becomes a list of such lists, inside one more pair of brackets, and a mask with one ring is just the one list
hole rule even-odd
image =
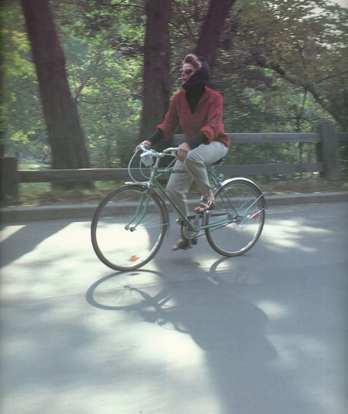
[[330, 121], [319, 123], [319, 134], [322, 141], [319, 143], [319, 161], [324, 164], [324, 177], [332, 182], [341, 179], [338, 144], [335, 136], [335, 124]]

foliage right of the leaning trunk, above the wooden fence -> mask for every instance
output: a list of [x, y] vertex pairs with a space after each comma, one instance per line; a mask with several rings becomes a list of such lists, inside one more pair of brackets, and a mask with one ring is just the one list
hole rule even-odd
[[347, 9], [327, 1], [237, 1], [221, 41], [223, 95], [232, 80], [242, 118], [251, 113], [262, 131], [306, 132], [319, 118], [347, 130], [345, 21]]

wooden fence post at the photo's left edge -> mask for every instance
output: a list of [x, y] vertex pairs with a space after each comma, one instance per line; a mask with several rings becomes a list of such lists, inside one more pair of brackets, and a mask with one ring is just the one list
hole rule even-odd
[[17, 157], [0, 157], [1, 188], [0, 200], [18, 198]]

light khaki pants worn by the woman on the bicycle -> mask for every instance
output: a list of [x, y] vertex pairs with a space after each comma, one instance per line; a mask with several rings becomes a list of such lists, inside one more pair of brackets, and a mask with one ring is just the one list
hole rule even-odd
[[206, 166], [213, 164], [225, 157], [228, 152], [226, 145], [219, 141], [213, 141], [208, 145], [202, 144], [189, 151], [184, 162], [175, 161], [174, 168], [184, 170], [184, 173], [173, 173], [169, 177], [167, 184], [168, 195], [178, 207], [189, 215], [187, 207], [187, 193], [191, 184], [196, 182], [198, 189], [203, 197], [212, 195], [212, 187], [209, 184]]

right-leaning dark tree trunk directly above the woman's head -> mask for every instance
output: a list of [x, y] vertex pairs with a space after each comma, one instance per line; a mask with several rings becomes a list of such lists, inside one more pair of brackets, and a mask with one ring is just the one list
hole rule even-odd
[[204, 22], [200, 26], [200, 35], [196, 47], [196, 54], [204, 56], [210, 67], [214, 65], [216, 52], [219, 50], [219, 41], [223, 25], [228, 17], [230, 8], [237, 0], [210, 0]]

